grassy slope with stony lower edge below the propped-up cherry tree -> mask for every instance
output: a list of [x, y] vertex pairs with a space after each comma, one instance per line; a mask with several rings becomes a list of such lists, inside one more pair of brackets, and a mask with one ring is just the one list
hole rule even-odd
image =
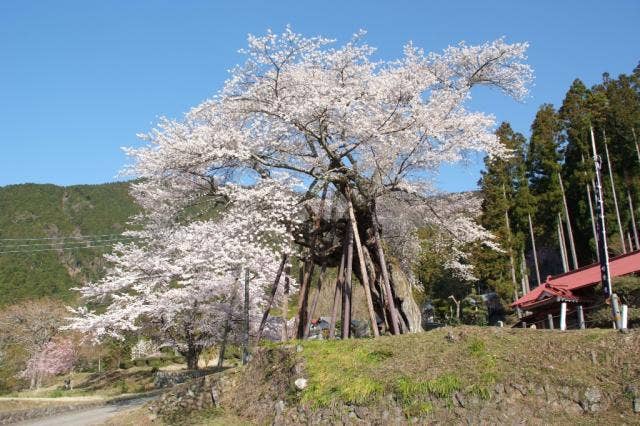
[[[636, 424], [628, 386], [640, 386], [639, 352], [637, 331], [598, 329], [458, 327], [274, 345], [239, 375], [226, 411], [268, 423], [281, 400], [294, 424], [356, 417], [374, 424]], [[302, 391], [293, 385], [300, 377], [308, 380]]]

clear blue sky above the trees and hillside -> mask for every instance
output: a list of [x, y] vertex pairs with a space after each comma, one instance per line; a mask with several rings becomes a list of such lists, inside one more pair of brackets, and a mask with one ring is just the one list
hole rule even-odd
[[[28, 1], [0, 2], [0, 185], [113, 181], [159, 116], [215, 93], [247, 33], [344, 41], [360, 28], [393, 59], [409, 40], [439, 51], [461, 40], [529, 41], [536, 80], [517, 103], [484, 90], [473, 109], [525, 134], [538, 106], [574, 78], [630, 73], [640, 60], [637, 1]], [[481, 158], [447, 167], [445, 190], [475, 188]]]

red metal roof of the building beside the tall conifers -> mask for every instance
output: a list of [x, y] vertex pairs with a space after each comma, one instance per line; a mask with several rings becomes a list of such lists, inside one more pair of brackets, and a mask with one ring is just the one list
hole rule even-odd
[[[612, 278], [640, 271], [640, 250], [612, 258], [609, 261], [609, 269]], [[573, 294], [573, 290], [599, 283], [600, 264], [594, 263], [571, 272], [547, 277], [545, 283], [513, 302], [511, 306], [526, 309], [552, 298], [578, 301], [579, 298]]]

